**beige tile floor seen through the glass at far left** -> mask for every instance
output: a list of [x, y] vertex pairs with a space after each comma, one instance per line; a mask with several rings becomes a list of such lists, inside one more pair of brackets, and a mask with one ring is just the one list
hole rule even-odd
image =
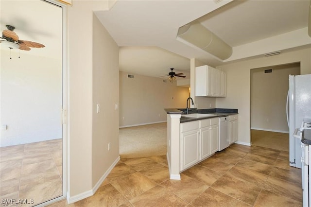
[[39, 204], [61, 196], [62, 185], [62, 139], [0, 148], [0, 199]]

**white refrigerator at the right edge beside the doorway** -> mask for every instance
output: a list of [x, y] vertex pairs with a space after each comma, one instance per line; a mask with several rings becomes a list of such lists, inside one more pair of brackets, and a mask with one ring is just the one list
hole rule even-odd
[[290, 166], [301, 168], [301, 140], [293, 135], [295, 129], [300, 128], [303, 119], [311, 118], [311, 74], [290, 75], [286, 108]]

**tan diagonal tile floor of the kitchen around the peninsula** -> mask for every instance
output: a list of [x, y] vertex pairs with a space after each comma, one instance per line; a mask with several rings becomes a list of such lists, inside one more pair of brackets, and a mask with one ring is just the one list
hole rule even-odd
[[301, 207], [289, 153], [233, 144], [170, 180], [166, 156], [121, 159], [96, 193], [50, 207]]

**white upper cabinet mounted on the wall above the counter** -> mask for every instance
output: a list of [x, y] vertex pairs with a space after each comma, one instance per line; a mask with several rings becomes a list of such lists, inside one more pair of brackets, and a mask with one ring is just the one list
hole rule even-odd
[[226, 97], [226, 73], [210, 66], [195, 68], [195, 96]]

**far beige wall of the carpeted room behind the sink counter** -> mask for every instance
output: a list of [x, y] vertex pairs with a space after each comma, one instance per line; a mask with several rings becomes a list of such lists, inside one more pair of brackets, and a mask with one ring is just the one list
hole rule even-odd
[[167, 121], [164, 108], [186, 108], [189, 88], [120, 71], [120, 127]]

